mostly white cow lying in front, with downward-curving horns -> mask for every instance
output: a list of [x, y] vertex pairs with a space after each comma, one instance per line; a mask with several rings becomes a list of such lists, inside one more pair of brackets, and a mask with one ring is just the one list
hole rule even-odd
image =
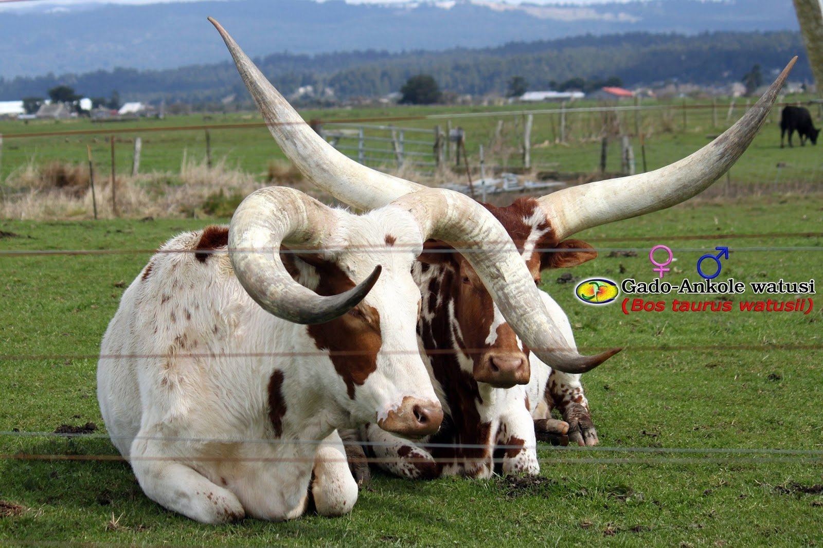
[[[355, 216], [263, 188], [229, 227], [165, 244], [106, 330], [100, 410], [146, 495], [209, 523], [295, 518], [309, 485], [319, 513], [351, 510], [357, 485], [337, 428], [374, 422], [421, 436], [442, 420], [411, 275], [428, 239], [475, 242], [472, 267], [547, 359], [570, 370], [605, 359], [565, 348], [545, 309], [518, 313], [537, 289], [503, 227], [470, 198], [426, 189]], [[500, 244], [484, 251], [487, 241]]]

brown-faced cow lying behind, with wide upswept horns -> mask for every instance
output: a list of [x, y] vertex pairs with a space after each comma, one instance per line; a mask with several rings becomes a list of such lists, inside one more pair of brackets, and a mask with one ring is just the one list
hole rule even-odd
[[[253, 69], [236, 44], [229, 40], [227, 44], [272, 135], [307, 179], [342, 202], [363, 210], [380, 207], [405, 194], [425, 192], [425, 187], [417, 183], [370, 170], [335, 151], [305, 124], [263, 75]], [[646, 174], [589, 183], [544, 197], [517, 200], [509, 207], [490, 206], [493, 215], [522, 250], [522, 258], [535, 281], [539, 281], [540, 272], [547, 267], [570, 267], [596, 256], [588, 244], [568, 239], [570, 235], [593, 226], [671, 207], [714, 183], [751, 143], [793, 63], [794, 60], [760, 101], [732, 128], [683, 160]], [[321, 162], [323, 169], [317, 169]], [[489, 242], [496, 243], [495, 240]], [[438, 453], [431, 446], [431, 451], [438, 453], [435, 456], [444, 455], [447, 464], [458, 464], [449, 465], [443, 470], [429, 467], [421, 475], [456, 471], [484, 475], [491, 469], [490, 456], [495, 453], [495, 444], [509, 446], [509, 450], [503, 452], [504, 470], [535, 471], [536, 466], [530, 463], [533, 460], [533, 445], [531, 457], [524, 457], [527, 452], [518, 450], [518, 447], [528, 446], [528, 440], [534, 438], [533, 428], [531, 435], [521, 433], [523, 410], [527, 408], [534, 412], [535, 418], [545, 418], [551, 406], [558, 407], [565, 419], [574, 425], [572, 435], [579, 444], [596, 444], [597, 434], [579, 383], [581, 369], [569, 367], [556, 356], [545, 355], [550, 347], [535, 345], [533, 341], [524, 341], [523, 344], [514, 337], [514, 332], [519, 331], [514, 329], [512, 332], [506, 325], [507, 321], [511, 321], [509, 315], [499, 313], [484, 295], [485, 290], [473, 280], [472, 267], [467, 265], [469, 255], [463, 253], [453, 258], [433, 258], [429, 252], [442, 251], [439, 248], [443, 248], [444, 244], [433, 241], [426, 245], [429, 249], [416, 265], [415, 273], [424, 295], [424, 314], [430, 307], [430, 318], [421, 318], [418, 328], [424, 351], [431, 360], [435, 388], [439, 390], [446, 410], [445, 424], [449, 426], [448, 431], [441, 430], [435, 438], [448, 441], [447, 445], [460, 443], [476, 447], [444, 448]], [[541, 309], [554, 314], [555, 321], [551, 328], [558, 348], [573, 351], [574, 337], [571, 336], [565, 313], [546, 294], [538, 294], [538, 298], [530, 302], [531, 305], [522, 309], [521, 313], [529, 314]], [[531, 377], [530, 361], [526, 359], [528, 351], [532, 352], [532, 363], [535, 355], [545, 362], [545, 376], [542, 376], [545, 384], [529, 388], [532, 396], [527, 403], [523, 390], [509, 388], [506, 392], [506, 388], [500, 387], [528, 382]], [[598, 359], [605, 359], [613, 353], [603, 353]], [[547, 374], [550, 370], [551, 374]], [[478, 383], [478, 380], [481, 382]], [[545, 393], [545, 398], [535, 397], [539, 393]], [[536, 402], [537, 399], [540, 402]], [[518, 418], [510, 419], [512, 416]], [[498, 426], [493, 428], [492, 422]], [[385, 441], [384, 434], [380, 435], [383, 437], [375, 447]], [[519, 444], [517, 439], [525, 441]], [[414, 448], [412, 444], [401, 443], [398, 447], [402, 448], [401, 453], [406, 454], [387, 457], [407, 457], [407, 462], [421, 460], [420, 455], [411, 453]], [[481, 460], [477, 470], [467, 469], [465, 463], [472, 460], [466, 457], [468, 453]], [[429, 455], [432, 456], [432, 453]], [[425, 458], [422, 460], [425, 461]]]

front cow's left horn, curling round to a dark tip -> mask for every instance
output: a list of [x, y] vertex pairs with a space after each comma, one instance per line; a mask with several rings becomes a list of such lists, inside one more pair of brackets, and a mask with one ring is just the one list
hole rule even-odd
[[268, 187], [249, 194], [231, 218], [229, 252], [240, 284], [263, 309], [294, 323], [324, 323], [348, 312], [380, 275], [339, 295], [321, 296], [294, 281], [280, 258], [281, 244], [322, 247], [332, 209], [294, 188]]

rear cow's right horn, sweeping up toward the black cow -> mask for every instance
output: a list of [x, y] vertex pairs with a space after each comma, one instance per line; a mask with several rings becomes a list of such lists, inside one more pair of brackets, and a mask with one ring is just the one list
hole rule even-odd
[[704, 191], [746, 151], [769, 114], [797, 57], [749, 111], [708, 145], [649, 173], [564, 188], [538, 199], [557, 241], [605, 225], [685, 202]]

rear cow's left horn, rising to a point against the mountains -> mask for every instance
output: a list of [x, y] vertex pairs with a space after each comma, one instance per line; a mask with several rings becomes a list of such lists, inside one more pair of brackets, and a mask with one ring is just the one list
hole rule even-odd
[[358, 164], [329, 145], [300, 118], [221, 24], [212, 17], [208, 20], [226, 42], [274, 140], [306, 179], [361, 210], [382, 207], [403, 194], [427, 188]]

